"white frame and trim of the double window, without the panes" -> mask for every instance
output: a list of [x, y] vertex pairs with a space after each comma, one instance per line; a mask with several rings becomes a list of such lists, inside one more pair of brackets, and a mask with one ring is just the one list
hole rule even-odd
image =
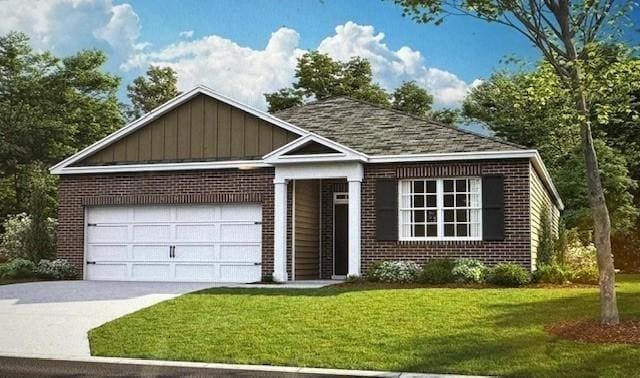
[[[444, 180], [470, 180], [475, 179], [480, 181], [478, 197], [480, 199], [480, 212], [478, 216], [478, 227], [479, 227], [479, 235], [478, 236], [444, 236]], [[402, 209], [402, 183], [407, 181], [415, 181], [415, 180], [431, 180], [436, 182], [436, 211], [438, 212], [437, 218], [437, 227], [438, 227], [438, 236], [402, 236], [402, 211], [403, 210], [414, 210], [410, 209]], [[457, 209], [457, 208], [453, 208]], [[426, 214], [425, 214], [426, 220]], [[425, 230], [426, 233], [426, 230]], [[479, 176], [462, 176], [462, 177], [420, 177], [413, 179], [401, 179], [398, 180], [398, 240], [399, 241], [480, 241], [482, 240], [482, 179]]]

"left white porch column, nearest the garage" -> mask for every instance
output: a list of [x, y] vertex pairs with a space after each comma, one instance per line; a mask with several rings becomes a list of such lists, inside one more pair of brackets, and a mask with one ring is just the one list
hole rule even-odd
[[273, 203], [273, 279], [287, 281], [287, 182], [275, 181]]

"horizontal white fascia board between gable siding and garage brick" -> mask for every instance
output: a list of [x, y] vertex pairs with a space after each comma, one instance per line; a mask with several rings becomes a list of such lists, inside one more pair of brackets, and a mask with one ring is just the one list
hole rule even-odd
[[85, 173], [119, 173], [119, 172], [152, 172], [152, 171], [186, 171], [196, 169], [255, 169], [271, 167], [262, 160], [230, 160], [203, 161], [189, 163], [160, 163], [160, 164], [119, 164], [94, 165], [86, 167], [60, 167], [52, 169], [56, 175], [85, 174]]

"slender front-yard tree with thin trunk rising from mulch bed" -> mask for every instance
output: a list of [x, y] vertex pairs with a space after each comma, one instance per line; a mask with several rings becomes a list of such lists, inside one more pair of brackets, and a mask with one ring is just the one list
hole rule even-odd
[[419, 23], [440, 24], [450, 15], [465, 15], [512, 29], [529, 40], [553, 68], [563, 87], [571, 91], [575, 122], [585, 158], [589, 203], [594, 223], [594, 244], [600, 271], [601, 320], [605, 325], [620, 321], [611, 254], [611, 224], [598, 159], [594, 147], [591, 101], [585, 90], [593, 79], [589, 47], [619, 25], [633, 2], [614, 0], [394, 0], [403, 15]]

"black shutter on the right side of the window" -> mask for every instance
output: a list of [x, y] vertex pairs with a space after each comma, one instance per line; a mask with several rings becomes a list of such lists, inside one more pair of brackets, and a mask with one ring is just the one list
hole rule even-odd
[[504, 240], [504, 179], [482, 176], [482, 240]]

